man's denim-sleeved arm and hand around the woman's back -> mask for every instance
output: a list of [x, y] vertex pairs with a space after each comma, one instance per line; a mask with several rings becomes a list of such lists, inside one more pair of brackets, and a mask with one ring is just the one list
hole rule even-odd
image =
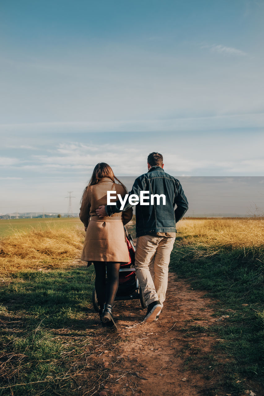
[[106, 206], [99, 206], [98, 209], [96, 209], [96, 214], [99, 217], [105, 217], [105, 216], [111, 216], [113, 213], [119, 213], [122, 211], [126, 211], [129, 208], [132, 208], [132, 206], [129, 202], [128, 199], [130, 195], [136, 195], [140, 196], [140, 191], [145, 190], [146, 183], [142, 177], [138, 177], [133, 184], [132, 190], [128, 192], [128, 198], [126, 200], [126, 204], [124, 205], [124, 208], [121, 210], [121, 202], [117, 201], [115, 205], [106, 205]]

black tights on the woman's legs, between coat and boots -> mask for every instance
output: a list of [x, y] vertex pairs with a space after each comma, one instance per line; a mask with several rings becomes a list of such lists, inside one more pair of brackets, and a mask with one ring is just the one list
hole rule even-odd
[[[118, 289], [120, 263], [111, 261], [94, 261], [96, 273], [95, 288], [100, 309], [104, 305], [113, 306], [115, 295]], [[107, 271], [107, 284], [105, 285], [105, 275]]]

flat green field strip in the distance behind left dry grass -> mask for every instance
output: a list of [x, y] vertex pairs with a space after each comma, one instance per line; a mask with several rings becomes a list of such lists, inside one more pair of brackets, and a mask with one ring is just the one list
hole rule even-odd
[[82, 227], [82, 223], [78, 217], [0, 220], [0, 238], [10, 236], [17, 231], [29, 232], [32, 228], [45, 230], [50, 227], [74, 227], [75, 225]]

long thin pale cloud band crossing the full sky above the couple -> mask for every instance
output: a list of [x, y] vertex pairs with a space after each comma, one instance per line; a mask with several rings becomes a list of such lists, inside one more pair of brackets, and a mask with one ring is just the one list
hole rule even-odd
[[[241, 110], [240, 110], [241, 111]], [[264, 112], [226, 112], [218, 110], [213, 115], [170, 116], [139, 120], [104, 122], [47, 122], [29, 124], [0, 124], [0, 133], [98, 133], [98, 132], [155, 132], [197, 131], [221, 128], [264, 127]], [[21, 146], [20, 146], [21, 147]], [[18, 148], [18, 146], [17, 146]], [[30, 146], [27, 146], [30, 148]], [[61, 146], [61, 150], [63, 150]], [[67, 148], [68, 149], [68, 148]], [[96, 149], [96, 148], [94, 148]]]

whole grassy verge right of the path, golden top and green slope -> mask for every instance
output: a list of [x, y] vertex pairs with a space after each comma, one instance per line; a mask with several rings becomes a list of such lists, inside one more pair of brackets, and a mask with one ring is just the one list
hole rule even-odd
[[229, 385], [232, 394], [241, 394], [246, 381], [263, 384], [264, 218], [184, 220], [178, 230], [171, 270], [216, 299], [216, 316], [228, 315], [209, 328], [193, 327], [197, 337], [207, 331], [222, 341], [205, 356], [204, 367], [195, 356], [187, 366], [213, 371], [224, 354], [229, 363], [222, 364], [219, 388]]

